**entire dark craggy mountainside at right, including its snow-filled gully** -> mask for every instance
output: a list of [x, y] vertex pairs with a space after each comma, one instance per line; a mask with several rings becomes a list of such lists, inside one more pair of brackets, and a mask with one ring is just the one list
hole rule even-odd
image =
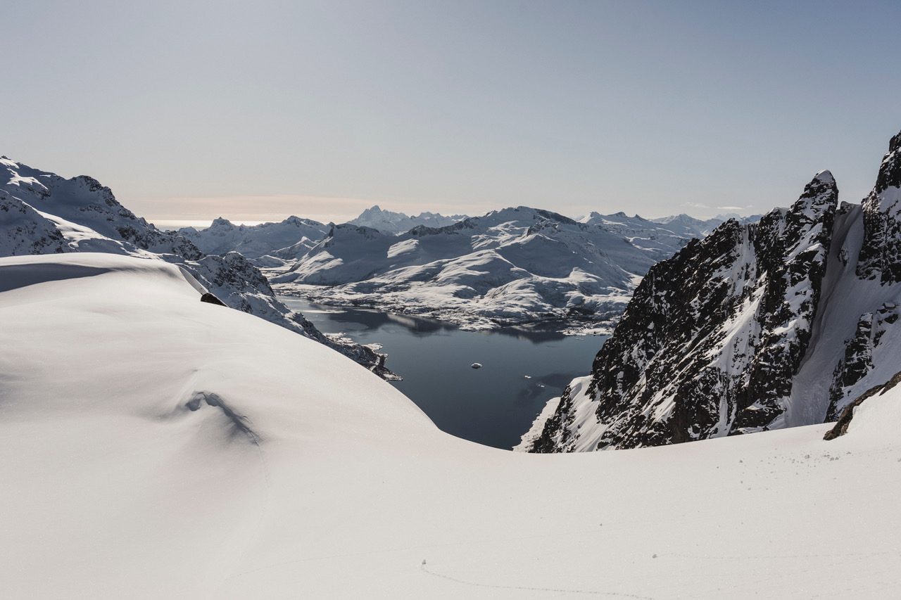
[[828, 171], [651, 268], [524, 450], [634, 448], [834, 420], [901, 369], [901, 133], [862, 205]]

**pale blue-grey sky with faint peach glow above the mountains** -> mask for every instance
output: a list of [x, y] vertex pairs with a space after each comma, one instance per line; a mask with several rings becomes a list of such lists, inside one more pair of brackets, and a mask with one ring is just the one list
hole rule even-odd
[[751, 214], [901, 129], [897, 2], [3, 6], [0, 154], [156, 223]]

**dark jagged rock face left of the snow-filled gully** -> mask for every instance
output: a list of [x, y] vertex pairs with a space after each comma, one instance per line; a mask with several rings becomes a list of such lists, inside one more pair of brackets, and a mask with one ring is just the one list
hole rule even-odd
[[[533, 451], [634, 448], [766, 429], [785, 411], [820, 298], [838, 188], [728, 221], [651, 268], [578, 398]], [[586, 406], [590, 406], [588, 410]]]

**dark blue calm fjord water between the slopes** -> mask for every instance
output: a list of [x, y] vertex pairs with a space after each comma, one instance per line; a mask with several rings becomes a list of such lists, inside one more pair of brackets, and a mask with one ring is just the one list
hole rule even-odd
[[[465, 332], [433, 319], [279, 299], [323, 332], [382, 344], [387, 367], [404, 377], [391, 383], [441, 430], [506, 450], [549, 399], [591, 370], [605, 340], [510, 328]], [[474, 362], [482, 368], [471, 368]]]

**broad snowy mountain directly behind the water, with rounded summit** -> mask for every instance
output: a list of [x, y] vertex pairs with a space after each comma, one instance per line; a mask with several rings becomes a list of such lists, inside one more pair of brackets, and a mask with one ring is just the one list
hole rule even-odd
[[571, 328], [582, 320], [603, 331], [651, 265], [694, 235], [638, 216], [594, 214], [578, 223], [527, 206], [399, 235], [342, 224], [271, 281], [318, 302], [427, 314], [471, 329], [555, 320]]

